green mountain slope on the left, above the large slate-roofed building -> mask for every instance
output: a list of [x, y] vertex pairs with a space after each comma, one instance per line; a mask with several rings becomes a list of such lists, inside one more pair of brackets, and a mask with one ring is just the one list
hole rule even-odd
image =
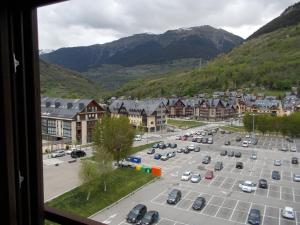
[[98, 98], [100, 89], [79, 73], [40, 60], [41, 95], [61, 98]]

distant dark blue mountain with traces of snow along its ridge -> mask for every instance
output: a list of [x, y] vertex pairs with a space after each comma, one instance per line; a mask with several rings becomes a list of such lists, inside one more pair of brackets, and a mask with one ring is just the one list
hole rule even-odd
[[184, 58], [210, 60], [241, 44], [243, 39], [222, 29], [199, 26], [169, 30], [163, 34], [136, 34], [86, 47], [61, 48], [41, 58], [79, 72], [102, 65], [159, 64]]

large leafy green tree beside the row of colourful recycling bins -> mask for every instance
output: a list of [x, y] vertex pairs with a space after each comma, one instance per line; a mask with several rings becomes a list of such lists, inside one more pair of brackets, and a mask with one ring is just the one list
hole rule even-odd
[[104, 116], [97, 121], [94, 130], [94, 143], [99, 148], [112, 154], [113, 159], [119, 161], [130, 155], [135, 131], [129, 119], [125, 116]]

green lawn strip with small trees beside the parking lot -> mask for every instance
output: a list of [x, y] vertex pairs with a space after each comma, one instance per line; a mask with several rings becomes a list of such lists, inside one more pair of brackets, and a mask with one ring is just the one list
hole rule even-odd
[[57, 209], [88, 217], [128, 195], [142, 185], [155, 179], [152, 174], [142, 173], [134, 169], [116, 169], [109, 175], [107, 191], [103, 191], [103, 182], [99, 181], [99, 189], [86, 200], [87, 193], [77, 187], [53, 200], [47, 202]]

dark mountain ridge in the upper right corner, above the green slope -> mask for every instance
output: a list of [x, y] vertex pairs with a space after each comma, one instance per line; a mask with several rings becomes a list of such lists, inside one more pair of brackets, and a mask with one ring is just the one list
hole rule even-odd
[[283, 13], [270, 21], [252, 35], [248, 37], [248, 39], [252, 39], [258, 37], [259, 35], [270, 33], [279, 28], [296, 25], [300, 21], [300, 2], [288, 7]]

